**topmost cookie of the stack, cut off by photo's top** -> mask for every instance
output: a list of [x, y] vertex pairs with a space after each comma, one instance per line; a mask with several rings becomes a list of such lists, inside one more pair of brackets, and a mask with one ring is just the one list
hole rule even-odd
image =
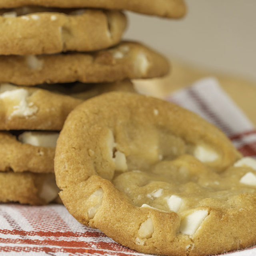
[[13, 8], [18, 6], [35, 5], [63, 8], [103, 8], [113, 10], [130, 10], [143, 14], [157, 15], [168, 18], [181, 18], [186, 13], [186, 5], [183, 0], [0, 0], [0, 8]]

